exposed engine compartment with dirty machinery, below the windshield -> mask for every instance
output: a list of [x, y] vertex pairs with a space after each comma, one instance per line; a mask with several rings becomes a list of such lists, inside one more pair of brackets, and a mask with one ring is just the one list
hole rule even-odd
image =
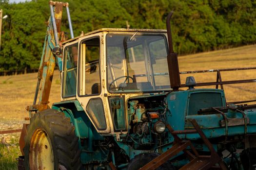
[[136, 150], [149, 150], [164, 141], [167, 122], [166, 96], [149, 96], [128, 100], [128, 142]]

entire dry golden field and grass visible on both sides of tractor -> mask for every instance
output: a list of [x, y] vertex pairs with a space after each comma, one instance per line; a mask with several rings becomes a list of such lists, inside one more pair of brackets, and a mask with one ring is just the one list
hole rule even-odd
[[[256, 45], [179, 56], [178, 60], [180, 71], [256, 67]], [[231, 71], [222, 72], [221, 76], [222, 81], [255, 79], [255, 73], [256, 70]], [[201, 83], [216, 81], [216, 74], [217, 73], [215, 72], [191, 75], [195, 77], [197, 83]], [[187, 76], [190, 75], [181, 75], [182, 84], [185, 83]], [[16, 76], [0, 76], [0, 126], [5, 124], [5, 122], [17, 122], [18, 120], [23, 120], [24, 117], [28, 117], [25, 107], [33, 103], [36, 85], [37, 73]], [[212, 86], [212, 88], [215, 88], [215, 86]], [[256, 99], [256, 83], [225, 85], [224, 90], [228, 102]], [[49, 105], [51, 105], [53, 102], [60, 101], [59, 91], [59, 72], [55, 71]], [[15, 127], [10, 126], [10, 128]], [[18, 136], [19, 133], [10, 134], [9, 138], [7, 138], [8, 140], [6, 140], [7, 143], [0, 143], [0, 169], [17, 169], [17, 161], [15, 158], [21, 154], [18, 148]], [[3, 136], [3, 138], [6, 138], [6, 136]], [[6, 147], [7, 145], [8, 147]]]

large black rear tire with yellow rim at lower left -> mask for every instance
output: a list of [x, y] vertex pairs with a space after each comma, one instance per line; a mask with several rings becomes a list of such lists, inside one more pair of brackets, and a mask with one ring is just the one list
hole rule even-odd
[[75, 128], [64, 113], [46, 109], [31, 118], [25, 136], [26, 170], [80, 170]]

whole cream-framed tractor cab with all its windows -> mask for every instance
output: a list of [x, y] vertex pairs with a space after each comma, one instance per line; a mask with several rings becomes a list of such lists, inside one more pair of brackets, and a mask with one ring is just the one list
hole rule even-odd
[[63, 42], [61, 100], [78, 100], [98, 133], [127, 133], [128, 98], [171, 90], [166, 35], [100, 29]]

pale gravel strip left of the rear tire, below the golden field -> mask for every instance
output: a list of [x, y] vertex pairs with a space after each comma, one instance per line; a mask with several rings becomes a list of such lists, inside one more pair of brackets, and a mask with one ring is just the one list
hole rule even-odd
[[[6, 120], [0, 121], [0, 131], [5, 130], [15, 130], [22, 129], [23, 123], [29, 123], [29, 120]], [[0, 134], [0, 141], [4, 145], [9, 145], [12, 141], [12, 138], [17, 138], [20, 136], [20, 133], [11, 133], [11, 134]]]

